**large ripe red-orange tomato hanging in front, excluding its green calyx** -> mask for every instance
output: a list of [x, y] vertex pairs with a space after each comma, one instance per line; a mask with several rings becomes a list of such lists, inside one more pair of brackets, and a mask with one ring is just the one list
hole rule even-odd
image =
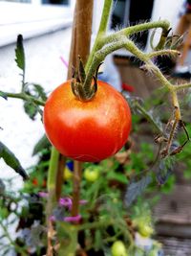
[[71, 81], [58, 86], [44, 108], [44, 127], [53, 146], [78, 161], [96, 162], [117, 151], [131, 129], [129, 105], [117, 90], [97, 81], [95, 98], [75, 98]]

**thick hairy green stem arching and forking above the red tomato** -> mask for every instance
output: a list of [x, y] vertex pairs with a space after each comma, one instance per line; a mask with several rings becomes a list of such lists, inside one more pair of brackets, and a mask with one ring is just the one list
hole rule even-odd
[[[105, 0], [104, 4], [107, 5], [107, 6], [104, 6], [104, 12], [110, 12], [111, 5], [112, 5], [111, 1]], [[108, 20], [105, 21], [104, 12], [101, 18], [101, 22], [103, 22], [104, 24], [107, 24]], [[138, 47], [134, 44], [133, 41], [127, 39], [127, 36], [136, 34], [141, 31], [145, 31], [153, 28], [161, 28], [162, 34], [160, 35], [160, 39], [159, 39], [159, 47], [162, 47], [162, 43], [164, 44], [165, 42], [163, 37], [164, 35], [167, 34], [167, 31], [170, 26], [168, 21], [163, 20], [163, 21], [138, 24], [136, 26], [123, 29], [112, 35], [105, 35], [105, 28], [106, 28], [105, 26], [106, 25], [102, 26], [100, 24], [98, 35], [96, 36], [96, 42], [95, 42], [94, 48], [92, 50], [90, 57], [88, 58], [88, 62], [86, 65], [87, 77], [83, 85], [85, 91], [90, 90], [89, 88], [91, 86], [93, 76], [96, 74], [96, 68], [98, 67], [100, 62], [103, 61], [107, 55], [121, 48], [126, 48], [128, 51], [133, 53], [136, 57], [146, 62], [147, 65], [152, 64], [152, 67], [153, 69], [155, 69], [155, 73], [158, 73], [158, 77], [160, 77], [160, 80], [162, 80], [163, 82], [165, 81], [165, 85], [168, 88], [170, 88], [171, 84], [167, 80], [165, 80], [165, 78], [159, 71], [159, 68], [152, 63], [149, 55], [142, 53], [138, 49]]]

